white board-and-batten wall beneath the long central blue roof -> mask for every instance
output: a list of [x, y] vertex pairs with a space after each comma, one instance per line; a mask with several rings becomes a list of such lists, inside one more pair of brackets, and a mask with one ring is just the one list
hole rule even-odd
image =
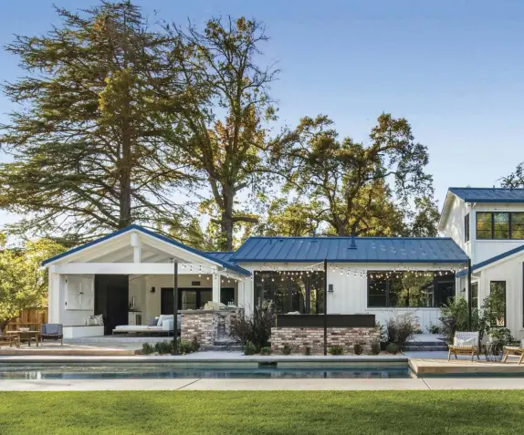
[[[330, 263], [331, 264], [331, 263]], [[367, 271], [393, 270], [397, 264], [333, 264], [347, 270], [351, 268], [350, 275], [340, 270], [332, 272], [328, 266], [328, 285], [333, 285], [333, 292], [328, 293], [328, 314], [374, 314], [376, 320], [384, 324], [388, 318], [403, 313], [411, 313], [417, 317], [418, 323], [425, 330], [431, 324], [438, 323], [440, 310], [438, 308], [368, 308], [368, 290], [367, 290]], [[272, 270], [273, 267], [278, 270], [303, 270], [311, 268], [312, 263], [271, 263], [264, 267], [262, 264], [250, 263], [239, 264], [241, 267], [257, 272], [259, 270]], [[409, 264], [411, 270], [430, 270], [428, 264]], [[364, 271], [366, 276], [360, 277], [359, 273], [354, 274], [353, 270]], [[246, 286], [246, 313], [250, 313], [255, 303], [254, 282], [251, 279], [244, 280]], [[425, 332], [425, 331], [424, 331]]]

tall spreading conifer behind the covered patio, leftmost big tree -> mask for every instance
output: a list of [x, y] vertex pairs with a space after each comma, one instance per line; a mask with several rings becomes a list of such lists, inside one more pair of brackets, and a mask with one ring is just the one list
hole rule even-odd
[[161, 96], [177, 92], [168, 38], [129, 2], [57, 12], [61, 26], [6, 47], [26, 71], [4, 88], [18, 109], [2, 126], [13, 159], [0, 166], [0, 208], [25, 216], [11, 230], [79, 241], [130, 223], [177, 227], [173, 188], [191, 177], [159, 127]]

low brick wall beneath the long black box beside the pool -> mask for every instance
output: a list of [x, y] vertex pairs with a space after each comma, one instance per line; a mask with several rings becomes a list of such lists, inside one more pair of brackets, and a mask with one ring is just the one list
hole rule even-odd
[[[364, 353], [371, 350], [372, 342], [380, 341], [378, 327], [329, 327], [328, 347], [341, 346], [345, 354], [353, 353], [353, 346], [361, 343]], [[311, 354], [324, 352], [324, 328], [322, 327], [272, 327], [271, 350], [282, 353], [284, 345], [289, 345], [293, 353], [303, 354], [310, 347]]]

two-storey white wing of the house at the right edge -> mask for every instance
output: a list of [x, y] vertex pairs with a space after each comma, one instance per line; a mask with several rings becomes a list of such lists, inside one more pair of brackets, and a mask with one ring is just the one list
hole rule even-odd
[[[524, 189], [450, 188], [439, 230], [471, 258], [472, 305], [498, 292], [499, 326], [524, 337]], [[459, 272], [457, 293], [467, 297], [466, 287]]]

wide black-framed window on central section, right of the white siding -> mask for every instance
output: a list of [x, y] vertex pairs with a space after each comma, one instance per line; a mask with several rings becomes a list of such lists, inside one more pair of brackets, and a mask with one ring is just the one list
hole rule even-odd
[[453, 297], [452, 272], [368, 272], [368, 307], [435, 307]]

